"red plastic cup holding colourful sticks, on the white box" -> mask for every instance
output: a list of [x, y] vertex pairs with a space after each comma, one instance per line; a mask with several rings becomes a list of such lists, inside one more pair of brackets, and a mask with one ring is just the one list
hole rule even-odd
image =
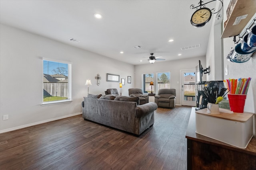
[[246, 94], [228, 94], [230, 110], [236, 113], [244, 113]]

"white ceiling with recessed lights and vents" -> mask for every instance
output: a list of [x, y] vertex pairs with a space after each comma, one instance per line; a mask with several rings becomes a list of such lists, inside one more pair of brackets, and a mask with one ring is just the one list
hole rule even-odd
[[[0, 22], [126, 63], [206, 55], [211, 21], [190, 24], [199, 0], [0, 0]], [[212, 9], [216, 3], [209, 3]], [[102, 19], [94, 18], [95, 13]], [[80, 42], [69, 41], [70, 38]], [[168, 42], [174, 39], [173, 42]], [[199, 48], [181, 47], [200, 44]], [[140, 45], [142, 48], [135, 49]], [[120, 51], [124, 53], [121, 54]], [[178, 56], [178, 54], [182, 54]], [[86, 56], [88, 57], [88, 56]], [[139, 62], [140, 60], [145, 60]], [[164, 61], [156, 61], [164, 62]]]

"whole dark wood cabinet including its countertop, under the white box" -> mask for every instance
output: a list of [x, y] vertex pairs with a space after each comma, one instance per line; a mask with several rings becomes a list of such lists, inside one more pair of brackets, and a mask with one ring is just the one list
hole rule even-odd
[[188, 170], [256, 170], [255, 136], [246, 149], [240, 149], [198, 135], [194, 114], [192, 108], [186, 133]]

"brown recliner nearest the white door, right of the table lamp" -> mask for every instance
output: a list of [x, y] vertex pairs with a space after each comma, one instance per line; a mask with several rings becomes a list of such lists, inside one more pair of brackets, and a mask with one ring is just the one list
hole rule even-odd
[[158, 90], [158, 95], [155, 96], [155, 103], [158, 107], [175, 107], [176, 89], [165, 88]]

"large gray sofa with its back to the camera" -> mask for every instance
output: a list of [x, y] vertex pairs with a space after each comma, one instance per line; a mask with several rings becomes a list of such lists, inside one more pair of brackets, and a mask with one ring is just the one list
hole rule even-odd
[[138, 105], [138, 97], [90, 96], [82, 102], [83, 118], [140, 135], [154, 124], [157, 105], [150, 102]]

